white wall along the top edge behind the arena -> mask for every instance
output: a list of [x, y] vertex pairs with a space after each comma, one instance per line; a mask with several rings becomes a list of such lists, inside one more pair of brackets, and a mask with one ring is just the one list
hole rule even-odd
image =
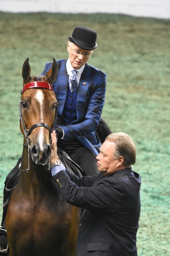
[[121, 13], [170, 19], [170, 0], [0, 0], [0, 11]]

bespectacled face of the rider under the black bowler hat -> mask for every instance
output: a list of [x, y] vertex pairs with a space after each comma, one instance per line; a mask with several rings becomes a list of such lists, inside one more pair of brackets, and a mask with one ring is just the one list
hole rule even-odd
[[[79, 51], [82, 54], [77, 55], [74, 50]], [[92, 54], [92, 51], [87, 51], [71, 42], [68, 42], [67, 51], [69, 52], [71, 66], [75, 70], [81, 68], [84, 64], [86, 64], [88, 58], [90, 57], [90, 54]], [[83, 53], [87, 53], [89, 54], [89, 56], [84, 56]]]

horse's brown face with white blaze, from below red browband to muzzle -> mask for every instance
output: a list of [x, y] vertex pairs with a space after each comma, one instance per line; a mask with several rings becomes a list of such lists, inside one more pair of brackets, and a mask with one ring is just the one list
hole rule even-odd
[[31, 88], [24, 91], [21, 102], [32, 160], [37, 165], [46, 165], [51, 153], [50, 131], [57, 105], [55, 94], [50, 89]]

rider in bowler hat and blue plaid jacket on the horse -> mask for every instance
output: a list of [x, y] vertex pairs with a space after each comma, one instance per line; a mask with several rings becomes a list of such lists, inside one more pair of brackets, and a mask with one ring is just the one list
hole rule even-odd
[[[58, 70], [53, 82], [54, 93], [58, 101], [55, 123], [55, 130], [58, 134], [57, 145], [74, 162], [78, 163], [86, 175], [99, 172], [96, 156], [100, 152], [101, 143], [96, 129], [100, 121], [106, 91], [106, 74], [87, 64], [97, 48], [96, 39], [96, 31], [82, 26], [75, 27], [67, 43], [69, 58], [56, 61]], [[41, 75], [46, 75], [51, 65], [52, 62], [46, 63]], [[75, 76], [72, 70], [77, 73]], [[72, 80], [74, 78], [76, 78], [76, 86], [73, 91], [74, 81]], [[111, 132], [108, 131], [109, 133]], [[5, 185], [18, 171], [19, 162], [6, 177]], [[15, 180], [14, 177], [10, 181], [11, 187]], [[9, 192], [4, 189], [4, 203], [8, 194]], [[1, 225], [4, 223], [6, 208], [3, 209]], [[5, 240], [0, 235], [1, 249], [6, 245]]]

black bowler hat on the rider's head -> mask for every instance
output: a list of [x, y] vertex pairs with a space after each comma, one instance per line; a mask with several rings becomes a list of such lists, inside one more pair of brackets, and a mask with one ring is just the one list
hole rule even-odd
[[96, 38], [97, 33], [95, 30], [79, 26], [74, 28], [72, 37], [69, 37], [69, 41], [85, 50], [91, 51], [97, 47]]

